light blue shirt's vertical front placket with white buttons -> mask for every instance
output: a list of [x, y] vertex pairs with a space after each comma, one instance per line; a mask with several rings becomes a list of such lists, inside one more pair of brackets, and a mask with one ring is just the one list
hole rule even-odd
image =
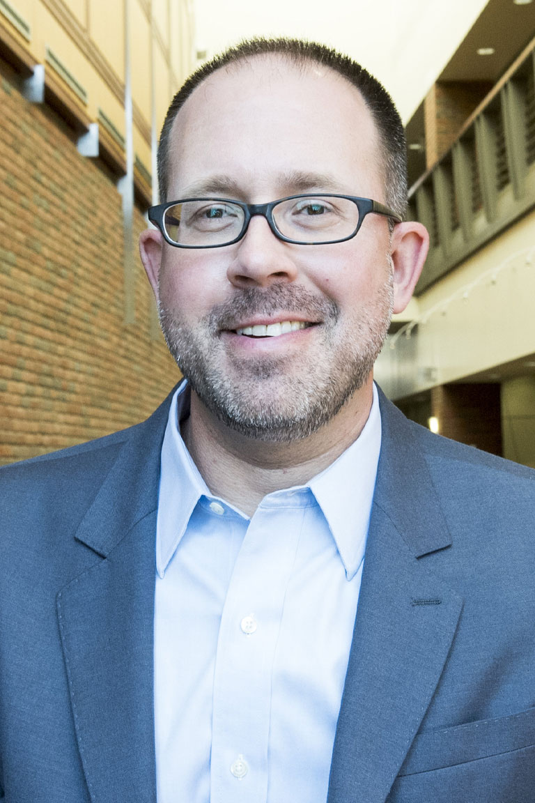
[[[292, 510], [288, 521], [285, 511], [282, 527], [277, 514], [259, 509], [249, 523], [234, 565], [221, 615], [214, 669], [210, 773], [213, 803], [261, 803], [267, 796], [270, 667], [302, 515], [302, 511]], [[237, 754], [243, 747], [246, 752]], [[237, 756], [245, 766], [236, 764]], [[241, 776], [239, 784], [234, 771]]]

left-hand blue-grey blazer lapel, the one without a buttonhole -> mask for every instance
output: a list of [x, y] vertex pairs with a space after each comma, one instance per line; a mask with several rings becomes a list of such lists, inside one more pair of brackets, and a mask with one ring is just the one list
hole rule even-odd
[[103, 560], [57, 597], [76, 736], [95, 801], [156, 801], [155, 536], [168, 401], [129, 434], [79, 526], [77, 540]]

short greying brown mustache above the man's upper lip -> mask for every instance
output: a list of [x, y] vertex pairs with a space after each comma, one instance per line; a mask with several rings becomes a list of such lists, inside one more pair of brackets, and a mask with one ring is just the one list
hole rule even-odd
[[217, 304], [208, 316], [213, 334], [221, 329], [235, 329], [252, 316], [272, 316], [276, 312], [297, 312], [314, 322], [338, 319], [338, 304], [316, 296], [304, 287], [290, 284], [272, 284], [270, 287], [245, 287], [225, 301]]

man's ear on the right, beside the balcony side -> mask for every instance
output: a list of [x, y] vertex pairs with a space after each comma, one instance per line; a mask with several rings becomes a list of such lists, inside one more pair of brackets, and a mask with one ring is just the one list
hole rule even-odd
[[394, 265], [394, 312], [403, 312], [424, 267], [429, 250], [428, 230], [421, 223], [398, 223], [391, 237]]

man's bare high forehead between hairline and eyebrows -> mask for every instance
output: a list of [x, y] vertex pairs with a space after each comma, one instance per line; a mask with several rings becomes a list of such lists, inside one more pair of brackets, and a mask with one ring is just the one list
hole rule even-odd
[[270, 194], [277, 176], [315, 173], [333, 177], [326, 189], [377, 197], [383, 175], [359, 90], [329, 67], [274, 55], [221, 67], [197, 87], [176, 116], [169, 165], [171, 192], [228, 175]]

